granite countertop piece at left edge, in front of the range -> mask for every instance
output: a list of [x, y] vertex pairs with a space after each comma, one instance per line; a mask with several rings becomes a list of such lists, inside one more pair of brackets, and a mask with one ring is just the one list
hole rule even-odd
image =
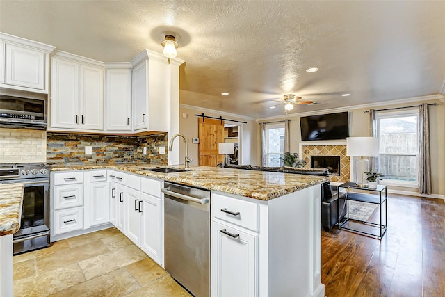
[[20, 228], [24, 184], [0, 184], [0, 236]]

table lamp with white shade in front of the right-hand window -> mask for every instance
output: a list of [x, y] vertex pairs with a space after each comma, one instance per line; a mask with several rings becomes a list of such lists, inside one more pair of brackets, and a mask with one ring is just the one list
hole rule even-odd
[[365, 156], [378, 156], [377, 137], [348, 137], [346, 138], [346, 156], [358, 156], [354, 163], [355, 183], [359, 187], [366, 187], [366, 174], [369, 171], [369, 160]]

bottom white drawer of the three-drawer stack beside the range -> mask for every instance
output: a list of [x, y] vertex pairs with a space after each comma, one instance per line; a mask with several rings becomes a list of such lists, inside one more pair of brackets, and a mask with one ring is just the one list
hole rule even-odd
[[83, 207], [54, 211], [54, 234], [83, 229]]

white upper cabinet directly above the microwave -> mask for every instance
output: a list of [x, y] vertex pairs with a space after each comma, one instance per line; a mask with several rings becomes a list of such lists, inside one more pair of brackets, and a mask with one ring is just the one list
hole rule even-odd
[[0, 33], [0, 84], [48, 93], [50, 45]]

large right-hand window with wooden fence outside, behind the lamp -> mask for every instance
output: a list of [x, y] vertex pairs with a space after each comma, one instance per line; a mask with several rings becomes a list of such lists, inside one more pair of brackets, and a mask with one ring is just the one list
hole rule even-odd
[[416, 186], [419, 172], [419, 111], [376, 115], [379, 138], [377, 170], [383, 184]]

